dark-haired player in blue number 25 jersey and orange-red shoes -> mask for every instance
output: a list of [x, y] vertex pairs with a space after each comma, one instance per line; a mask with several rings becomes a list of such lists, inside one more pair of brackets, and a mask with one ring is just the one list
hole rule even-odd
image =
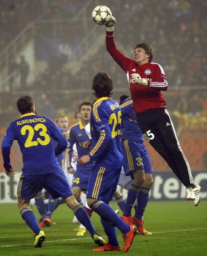
[[[101, 217], [108, 242], [93, 251], [119, 251], [115, 227], [123, 234], [126, 252], [131, 246], [135, 227], [125, 223], [110, 207], [117, 186], [123, 157], [120, 149], [121, 111], [118, 103], [110, 98], [112, 80], [106, 73], [94, 76], [92, 90], [96, 97], [90, 118], [91, 149], [79, 159], [79, 164], [94, 161], [87, 186], [87, 203]], [[89, 141], [84, 145], [89, 146]]]

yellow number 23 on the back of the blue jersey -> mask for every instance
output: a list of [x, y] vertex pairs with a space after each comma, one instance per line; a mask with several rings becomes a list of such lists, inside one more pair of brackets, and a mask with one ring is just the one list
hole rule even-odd
[[[44, 139], [42, 140], [40, 138], [36, 138], [36, 140], [32, 140], [34, 136], [34, 131], [38, 131], [39, 129], [41, 129], [41, 131], [39, 132], [39, 135], [41, 137], [44, 137]], [[46, 146], [50, 142], [50, 138], [49, 138], [49, 135], [46, 133], [47, 129], [44, 124], [36, 124], [34, 128], [30, 125], [24, 125], [21, 128], [21, 135], [25, 135], [26, 131], [28, 131], [28, 136], [24, 143], [25, 148], [37, 146], [38, 144], [42, 146]]]

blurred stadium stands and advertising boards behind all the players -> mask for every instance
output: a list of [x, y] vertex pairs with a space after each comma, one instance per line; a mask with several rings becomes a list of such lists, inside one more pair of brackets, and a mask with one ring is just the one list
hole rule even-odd
[[[0, 1], [0, 141], [9, 122], [19, 117], [16, 100], [30, 95], [37, 113], [52, 120], [59, 114], [74, 123], [82, 101], [93, 101], [91, 82], [98, 72], [110, 74], [118, 101], [129, 94], [124, 72], [105, 49], [103, 26], [91, 12], [106, 5], [116, 17], [114, 40], [132, 57], [138, 42], [155, 47], [154, 62], [168, 78], [163, 95], [195, 183], [207, 198], [207, 56], [206, 1], [190, 0], [1, 0]], [[20, 57], [29, 65], [20, 83]], [[146, 142], [154, 170], [152, 199], [182, 199], [184, 190], [161, 157]], [[11, 162], [21, 170], [21, 154], [14, 143]], [[15, 201], [18, 174], [4, 175], [0, 156], [0, 202]]]

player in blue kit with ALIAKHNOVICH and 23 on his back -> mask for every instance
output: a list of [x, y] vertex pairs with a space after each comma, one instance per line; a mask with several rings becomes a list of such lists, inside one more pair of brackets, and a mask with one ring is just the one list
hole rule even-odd
[[[35, 106], [31, 97], [20, 97], [17, 100], [17, 108], [21, 117], [9, 124], [1, 150], [5, 173], [12, 177], [14, 171], [9, 155], [13, 140], [17, 140], [20, 147], [23, 167], [17, 187], [18, 209], [21, 217], [35, 233], [34, 247], [41, 247], [45, 234], [40, 230], [36, 217], [29, 208], [29, 201], [42, 188], [45, 188], [53, 198], [65, 198], [67, 206], [86, 226], [95, 243], [104, 244], [104, 240], [94, 230], [87, 212], [77, 203], [57, 163], [56, 156], [66, 149], [67, 140], [50, 119], [34, 114]], [[51, 143], [52, 138], [57, 142], [55, 148]]]

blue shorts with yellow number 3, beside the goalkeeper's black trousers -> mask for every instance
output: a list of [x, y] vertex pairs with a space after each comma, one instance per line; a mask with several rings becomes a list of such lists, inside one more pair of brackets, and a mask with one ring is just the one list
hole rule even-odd
[[148, 152], [143, 143], [133, 140], [121, 140], [121, 150], [123, 154], [123, 169], [126, 175], [130, 171], [144, 170], [144, 173], [152, 173], [151, 162]]

